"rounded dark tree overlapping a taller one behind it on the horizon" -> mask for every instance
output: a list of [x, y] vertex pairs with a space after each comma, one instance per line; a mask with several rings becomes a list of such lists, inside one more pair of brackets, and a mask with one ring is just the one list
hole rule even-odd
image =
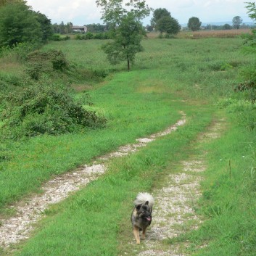
[[171, 16], [163, 16], [156, 23], [156, 30], [160, 31], [160, 33], [166, 32], [169, 35], [176, 35], [180, 29], [181, 26], [178, 24], [178, 20]]

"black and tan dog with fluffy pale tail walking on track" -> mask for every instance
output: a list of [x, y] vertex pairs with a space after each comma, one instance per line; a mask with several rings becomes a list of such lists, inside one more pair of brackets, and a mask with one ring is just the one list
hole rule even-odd
[[152, 210], [154, 198], [149, 193], [139, 193], [134, 200], [134, 209], [131, 213], [131, 223], [136, 244], [140, 244], [139, 231], [142, 231], [141, 239], [145, 239], [146, 228], [152, 222]]

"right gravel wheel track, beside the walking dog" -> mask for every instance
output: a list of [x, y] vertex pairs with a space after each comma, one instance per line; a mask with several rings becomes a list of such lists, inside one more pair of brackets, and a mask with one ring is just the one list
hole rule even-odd
[[[217, 139], [223, 126], [223, 120], [215, 121], [206, 133], [198, 137], [198, 145]], [[170, 246], [162, 241], [192, 228], [198, 228], [201, 223], [202, 220], [194, 212], [194, 206], [201, 195], [200, 173], [206, 169], [206, 154], [194, 154], [189, 160], [180, 162], [181, 172], [171, 174], [164, 187], [153, 191], [156, 205], [153, 210], [152, 226], [137, 255], [185, 255], [181, 244]], [[186, 244], [182, 246], [186, 247]]]

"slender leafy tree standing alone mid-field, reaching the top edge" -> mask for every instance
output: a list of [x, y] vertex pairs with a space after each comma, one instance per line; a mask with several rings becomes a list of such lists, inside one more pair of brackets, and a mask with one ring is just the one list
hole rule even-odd
[[[141, 40], [146, 31], [141, 23], [150, 14], [151, 9], [144, 0], [96, 0], [98, 7], [102, 7], [102, 20], [109, 26], [112, 41], [102, 47], [107, 59], [112, 65], [121, 60], [130, 63], [136, 53], [142, 51]], [[127, 7], [127, 9], [125, 9]]]

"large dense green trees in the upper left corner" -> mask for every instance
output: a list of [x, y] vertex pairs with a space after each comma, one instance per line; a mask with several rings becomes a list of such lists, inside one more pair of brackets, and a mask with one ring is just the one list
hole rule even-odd
[[34, 12], [25, 1], [4, 4], [0, 8], [0, 46], [22, 42], [44, 43], [51, 36], [51, 21]]

